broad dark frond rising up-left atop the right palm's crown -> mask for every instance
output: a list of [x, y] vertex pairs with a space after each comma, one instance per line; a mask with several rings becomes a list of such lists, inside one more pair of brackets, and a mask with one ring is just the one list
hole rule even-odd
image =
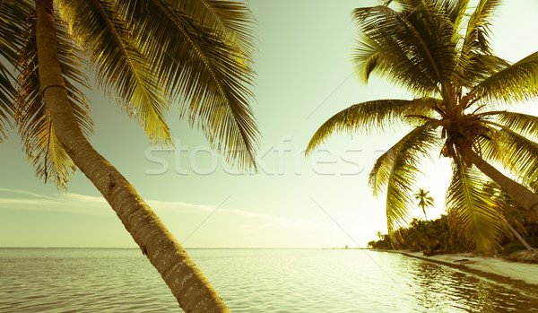
[[353, 11], [362, 34], [352, 61], [363, 78], [375, 72], [418, 94], [439, 93], [455, 67], [454, 22], [437, 3], [404, 4], [401, 12], [383, 5]]

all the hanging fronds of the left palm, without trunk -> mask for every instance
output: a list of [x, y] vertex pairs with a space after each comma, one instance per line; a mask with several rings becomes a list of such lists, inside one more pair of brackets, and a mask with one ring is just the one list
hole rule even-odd
[[[256, 168], [256, 121], [249, 102], [255, 20], [245, 4], [222, 0], [57, 0], [56, 39], [65, 87], [85, 135], [83, 91], [91, 70], [152, 143], [171, 144], [165, 115], [201, 127], [213, 148], [243, 170]], [[35, 3], [0, 1], [0, 142], [15, 122], [37, 176], [65, 188], [74, 165], [57, 141], [39, 86]], [[90, 66], [87, 66], [90, 65]], [[10, 71], [14, 69], [14, 74]], [[16, 81], [16, 83], [15, 83]]]

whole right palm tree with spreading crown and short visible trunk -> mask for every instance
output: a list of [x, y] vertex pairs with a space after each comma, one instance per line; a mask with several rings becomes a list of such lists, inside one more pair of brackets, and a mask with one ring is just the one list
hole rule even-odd
[[[499, 246], [503, 222], [482, 185], [493, 180], [530, 212], [538, 196], [538, 117], [499, 109], [538, 96], [538, 52], [510, 63], [493, 54], [490, 25], [500, 0], [394, 0], [357, 8], [353, 65], [414, 94], [413, 100], [371, 100], [329, 118], [312, 137], [313, 152], [333, 133], [404, 124], [411, 131], [381, 155], [369, 175], [374, 195], [386, 191], [389, 232], [404, 223], [420, 163], [434, 153], [452, 160], [447, 208], [463, 239], [482, 251]], [[394, 7], [389, 7], [395, 5]], [[502, 165], [509, 178], [491, 164]]]

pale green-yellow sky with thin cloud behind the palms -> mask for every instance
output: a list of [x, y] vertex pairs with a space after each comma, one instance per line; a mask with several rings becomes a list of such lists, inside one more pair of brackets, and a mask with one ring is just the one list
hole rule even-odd
[[[384, 196], [368, 187], [369, 170], [405, 129], [378, 135], [338, 135], [309, 158], [317, 127], [366, 100], [412, 95], [351, 71], [357, 27], [351, 11], [367, 0], [251, 0], [257, 20], [256, 100], [261, 132], [258, 172], [241, 174], [212, 152], [202, 132], [167, 117], [175, 151], [160, 151], [143, 130], [95, 88], [87, 91], [96, 125], [91, 143], [126, 176], [186, 248], [365, 247], [386, 231]], [[538, 1], [505, 1], [492, 29], [495, 52], [516, 61], [538, 50]], [[95, 85], [95, 84], [93, 84]], [[538, 103], [514, 110], [538, 115]], [[67, 192], [45, 185], [8, 132], [0, 144], [0, 247], [135, 247], [91, 182], [77, 172]], [[445, 212], [449, 162], [425, 161], [419, 187]], [[417, 217], [422, 213], [414, 211]]]

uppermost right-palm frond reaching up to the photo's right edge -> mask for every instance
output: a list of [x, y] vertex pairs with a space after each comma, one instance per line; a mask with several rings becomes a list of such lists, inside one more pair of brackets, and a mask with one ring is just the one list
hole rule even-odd
[[491, 74], [468, 92], [468, 97], [490, 102], [514, 102], [538, 96], [538, 52]]

